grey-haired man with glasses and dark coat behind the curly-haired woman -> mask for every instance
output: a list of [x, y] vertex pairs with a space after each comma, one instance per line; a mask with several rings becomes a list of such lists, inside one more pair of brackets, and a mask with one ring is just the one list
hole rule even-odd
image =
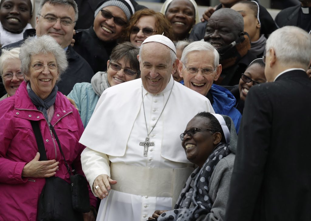
[[[36, 29], [27, 29], [25, 39], [33, 35], [50, 35], [67, 53], [68, 69], [57, 83], [58, 91], [67, 95], [76, 83], [91, 82], [94, 75], [90, 65], [72, 47], [73, 29], [78, 18], [74, 0], [42, 0], [39, 5]], [[6, 48], [19, 47], [24, 40]]]

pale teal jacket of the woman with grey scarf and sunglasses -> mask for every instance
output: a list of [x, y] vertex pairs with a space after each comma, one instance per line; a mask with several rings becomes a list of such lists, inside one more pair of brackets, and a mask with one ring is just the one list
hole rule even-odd
[[83, 82], [75, 84], [67, 97], [76, 102], [85, 128], [94, 112], [99, 96], [94, 92], [91, 83]]

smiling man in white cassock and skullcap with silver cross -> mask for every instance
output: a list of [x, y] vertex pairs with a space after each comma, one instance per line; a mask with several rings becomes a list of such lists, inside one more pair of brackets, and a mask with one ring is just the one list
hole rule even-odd
[[106, 89], [80, 140], [101, 221], [145, 221], [172, 209], [193, 171], [179, 135], [198, 112], [214, 113], [205, 96], [173, 80], [179, 60], [167, 37], [148, 37], [137, 58], [141, 79]]

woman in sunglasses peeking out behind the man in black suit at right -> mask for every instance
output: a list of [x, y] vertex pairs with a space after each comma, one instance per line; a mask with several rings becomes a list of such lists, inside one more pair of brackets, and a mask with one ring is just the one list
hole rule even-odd
[[[243, 114], [244, 102], [248, 91], [251, 87], [257, 84], [265, 83], [267, 81], [265, 76], [265, 63], [262, 58], [253, 60], [241, 75], [239, 81], [239, 96], [235, 95], [236, 108]], [[237, 94], [237, 90], [232, 91], [232, 94]]]

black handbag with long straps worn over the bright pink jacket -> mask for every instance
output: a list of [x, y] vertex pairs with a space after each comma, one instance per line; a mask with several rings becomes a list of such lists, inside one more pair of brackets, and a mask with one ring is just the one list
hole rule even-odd
[[[31, 126], [38, 144], [40, 160], [48, 160], [39, 123], [31, 121]], [[52, 125], [50, 127], [63, 156], [67, 171], [71, 175], [56, 132]], [[45, 178], [45, 180], [45, 185], [38, 201], [37, 220], [83, 221], [82, 213], [90, 211], [89, 191], [85, 177], [80, 174], [71, 175], [71, 183], [67, 183], [62, 178], [54, 176]]]

